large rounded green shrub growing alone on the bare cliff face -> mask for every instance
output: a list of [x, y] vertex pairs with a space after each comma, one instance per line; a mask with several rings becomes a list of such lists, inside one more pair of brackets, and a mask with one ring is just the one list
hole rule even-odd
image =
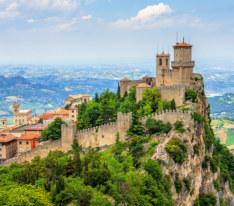
[[177, 138], [171, 139], [165, 147], [170, 157], [178, 164], [182, 164], [187, 156], [185, 144]]

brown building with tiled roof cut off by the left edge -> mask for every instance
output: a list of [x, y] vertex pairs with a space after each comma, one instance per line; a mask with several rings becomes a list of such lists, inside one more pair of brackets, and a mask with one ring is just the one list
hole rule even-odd
[[0, 134], [0, 163], [17, 154], [17, 139], [12, 134]]

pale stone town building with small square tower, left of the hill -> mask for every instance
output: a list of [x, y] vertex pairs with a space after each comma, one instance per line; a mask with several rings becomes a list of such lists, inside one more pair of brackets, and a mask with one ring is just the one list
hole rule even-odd
[[16, 126], [30, 124], [32, 119], [32, 110], [21, 110], [20, 104], [13, 104], [13, 123]]

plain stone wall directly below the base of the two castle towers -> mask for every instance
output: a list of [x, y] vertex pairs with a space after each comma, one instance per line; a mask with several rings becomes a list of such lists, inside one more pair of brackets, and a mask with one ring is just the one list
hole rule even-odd
[[176, 106], [181, 106], [185, 100], [186, 87], [181, 85], [175, 86], [162, 86], [159, 88], [161, 97], [164, 100], [175, 100]]

